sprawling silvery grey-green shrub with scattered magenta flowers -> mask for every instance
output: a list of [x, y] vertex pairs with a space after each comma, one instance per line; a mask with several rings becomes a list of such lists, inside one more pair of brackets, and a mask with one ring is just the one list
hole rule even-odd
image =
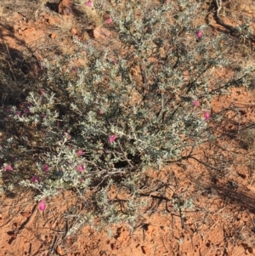
[[[14, 174], [13, 185], [34, 188], [37, 200], [63, 189], [85, 196], [87, 213], [70, 232], [83, 223], [135, 227], [150, 201], [140, 197], [150, 194], [146, 170], [160, 171], [214, 139], [210, 100], [246, 82], [249, 71], [215, 76], [215, 68], [233, 70], [226, 57], [233, 43], [192, 25], [199, 3], [129, 1], [102, 9], [94, 1], [94, 8], [109, 12], [105, 26], [118, 38], [74, 37], [76, 54], [45, 60], [43, 88], [11, 107], [18, 136], [2, 148], [3, 173]], [[85, 64], [77, 65], [84, 53]]]

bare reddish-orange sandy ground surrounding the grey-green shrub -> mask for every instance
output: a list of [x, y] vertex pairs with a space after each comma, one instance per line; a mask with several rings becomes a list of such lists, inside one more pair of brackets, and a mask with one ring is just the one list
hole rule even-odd
[[[0, 21], [1, 60], [20, 63], [27, 77], [37, 77], [38, 61], [53, 51], [71, 53], [73, 35], [89, 36], [82, 31], [82, 18], [59, 15], [46, 3], [31, 4], [27, 9], [24, 6], [30, 1], [9, 2]], [[0, 6], [4, 7], [4, 1]], [[254, 26], [254, 1], [224, 1], [224, 22], [234, 26], [243, 16], [253, 20]], [[225, 31], [212, 14], [209, 19], [216, 35]], [[246, 54], [244, 61], [255, 61]], [[226, 74], [228, 71], [216, 71], [218, 77]], [[47, 198], [47, 208], [41, 212], [31, 191], [23, 189], [0, 196], [0, 256], [255, 255], [255, 128], [250, 125], [247, 134], [235, 134], [255, 122], [254, 96], [254, 89], [233, 88], [228, 95], [215, 98], [212, 116], [222, 113], [227, 117], [224, 120], [229, 120], [210, 124], [216, 134], [224, 134], [218, 136], [217, 144], [201, 145], [193, 158], [161, 172], [150, 170], [151, 179], [161, 179], [168, 186], [150, 195], [151, 213], [133, 233], [123, 224], [113, 226], [111, 237], [106, 230], [99, 232], [90, 226], [68, 236], [75, 219], [65, 219], [65, 213], [84, 210], [75, 193], [60, 191], [58, 196]], [[195, 208], [184, 213], [174, 211], [163, 198], [176, 195], [191, 198]]]

